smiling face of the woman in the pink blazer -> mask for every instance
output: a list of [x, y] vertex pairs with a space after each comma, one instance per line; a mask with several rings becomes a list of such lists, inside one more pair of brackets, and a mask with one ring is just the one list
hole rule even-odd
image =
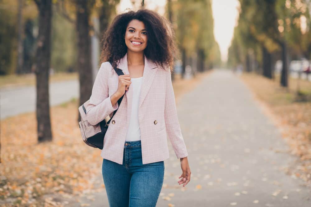
[[125, 32], [125, 44], [132, 52], [142, 52], [147, 47], [147, 30], [145, 24], [139, 20], [128, 23]]

